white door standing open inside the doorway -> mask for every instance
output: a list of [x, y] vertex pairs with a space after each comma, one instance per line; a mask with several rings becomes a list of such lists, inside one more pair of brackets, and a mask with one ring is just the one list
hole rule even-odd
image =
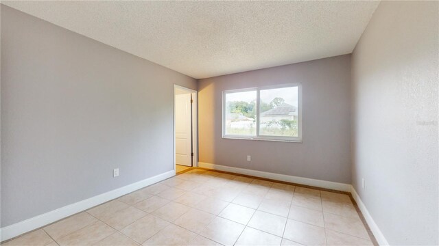
[[176, 95], [176, 164], [192, 166], [191, 94]]

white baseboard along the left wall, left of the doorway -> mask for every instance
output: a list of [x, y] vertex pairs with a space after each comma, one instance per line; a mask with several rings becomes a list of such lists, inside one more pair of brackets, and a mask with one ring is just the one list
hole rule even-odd
[[88, 208], [92, 208], [104, 202], [108, 202], [117, 197], [120, 197], [121, 195], [126, 195], [128, 193], [131, 193], [132, 191], [147, 187], [148, 185], [160, 182], [161, 180], [165, 180], [175, 175], [175, 170], [171, 170], [169, 172], [158, 174], [157, 176], [146, 178], [133, 184], [128, 184], [119, 189], [108, 191], [101, 195], [96, 195], [86, 200], [63, 206], [62, 208], [58, 208], [56, 210], [51, 210], [50, 212], [43, 215], [38, 215], [36, 217], [26, 219], [25, 221], [14, 223], [10, 226], [6, 226], [5, 228], [0, 228], [0, 241], [5, 241], [15, 236], [19, 236], [25, 232], [30, 232], [32, 230], [35, 230], [36, 228], [40, 228], [65, 217], [69, 217], [70, 215], [74, 215], [75, 213], [79, 213]]

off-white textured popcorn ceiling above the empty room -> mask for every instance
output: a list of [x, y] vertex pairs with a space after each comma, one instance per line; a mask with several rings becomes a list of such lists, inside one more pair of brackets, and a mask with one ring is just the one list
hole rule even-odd
[[351, 53], [379, 1], [1, 1], [195, 79]]

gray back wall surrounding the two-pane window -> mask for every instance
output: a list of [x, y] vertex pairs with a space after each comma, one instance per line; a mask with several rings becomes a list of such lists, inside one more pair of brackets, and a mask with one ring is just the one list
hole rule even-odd
[[[222, 91], [297, 82], [302, 84], [302, 143], [222, 138]], [[202, 79], [200, 161], [351, 183], [350, 92], [350, 55]]]

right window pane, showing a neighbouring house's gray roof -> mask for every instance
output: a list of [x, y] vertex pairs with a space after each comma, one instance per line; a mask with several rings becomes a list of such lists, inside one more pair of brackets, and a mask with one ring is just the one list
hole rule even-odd
[[298, 137], [298, 87], [260, 91], [259, 135]]

